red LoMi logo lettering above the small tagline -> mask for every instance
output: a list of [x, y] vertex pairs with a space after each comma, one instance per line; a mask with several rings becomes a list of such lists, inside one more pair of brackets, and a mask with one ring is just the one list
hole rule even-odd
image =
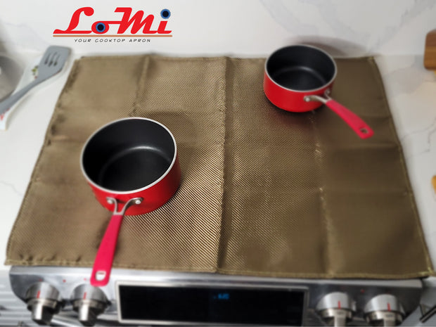
[[[90, 24], [90, 30], [78, 30], [79, 22], [84, 16], [94, 15], [94, 8], [83, 7], [72, 14], [70, 25], [66, 30], [54, 30], [53, 37], [172, 37], [171, 30], [167, 30], [167, 20], [171, 16], [168, 9], [160, 12], [159, 24], [155, 23], [154, 15], [143, 18], [143, 11], [136, 11], [132, 15], [132, 8], [117, 7], [115, 13], [122, 13], [121, 20], [97, 20]], [[82, 15], [83, 14], [83, 15]], [[115, 34], [106, 34], [109, 30], [114, 31], [112, 26], [117, 27]], [[130, 27], [130, 31], [127, 31]], [[138, 34], [142, 29], [142, 34]], [[130, 34], [128, 34], [130, 32]]]

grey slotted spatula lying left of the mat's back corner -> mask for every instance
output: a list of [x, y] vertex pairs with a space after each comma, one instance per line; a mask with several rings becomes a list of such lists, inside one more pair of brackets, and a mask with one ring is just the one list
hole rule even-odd
[[38, 64], [38, 75], [30, 84], [15, 92], [4, 101], [0, 102], [0, 115], [5, 113], [12, 105], [14, 105], [20, 98], [22, 98], [27, 92], [37, 86], [46, 79], [56, 75], [67, 62], [70, 56], [71, 50], [65, 48], [65, 46], [49, 46], [41, 61]]

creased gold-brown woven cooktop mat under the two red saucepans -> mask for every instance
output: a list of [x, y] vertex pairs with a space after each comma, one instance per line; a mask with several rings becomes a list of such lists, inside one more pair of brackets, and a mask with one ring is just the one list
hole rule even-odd
[[288, 113], [262, 91], [264, 59], [89, 57], [74, 63], [9, 238], [6, 264], [91, 267], [110, 219], [79, 167], [84, 141], [122, 117], [158, 120], [182, 181], [124, 218], [114, 266], [304, 278], [433, 273], [373, 58], [338, 60], [328, 108]]

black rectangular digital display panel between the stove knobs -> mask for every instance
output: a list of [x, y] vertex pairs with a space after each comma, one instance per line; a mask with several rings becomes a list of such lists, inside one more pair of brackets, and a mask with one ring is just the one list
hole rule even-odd
[[301, 326], [304, 290], [119, 285], [122, 321]]

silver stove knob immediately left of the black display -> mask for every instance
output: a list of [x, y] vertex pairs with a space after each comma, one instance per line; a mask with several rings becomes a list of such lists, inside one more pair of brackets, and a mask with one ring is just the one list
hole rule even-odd
[[94, 326], [98, 314], [103, 313], [109, 304], [103, 291], [91, 285], [77, 286], [72, 291], [71, 302], [84, 326]]

